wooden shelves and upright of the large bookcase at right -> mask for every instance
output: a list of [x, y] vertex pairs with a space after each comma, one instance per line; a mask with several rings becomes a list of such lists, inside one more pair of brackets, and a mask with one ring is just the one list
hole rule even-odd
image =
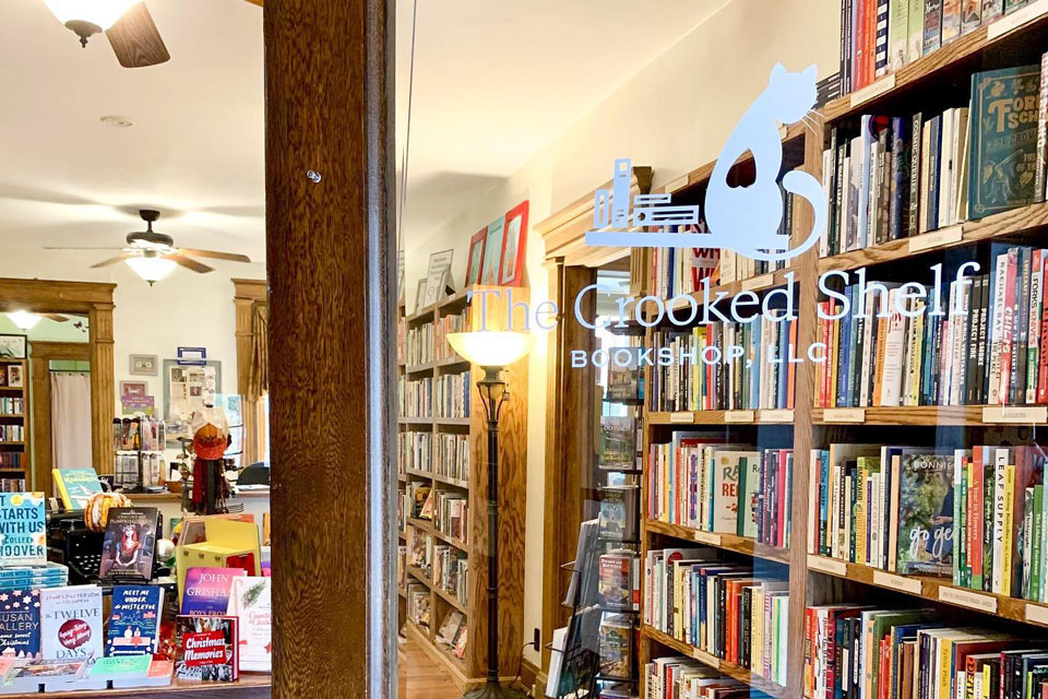
[[[794, 125], [785, 130], [784, 168], [802, 167], [822, 178], [823, 150], [829, 147], [834, 126], [853, 123], [861, 114], [933, 114], [944, 107], [965, 104], [973, 72], [1037, 63], [1048, 50], [1048, 5], [1040, 2], [1031, 11], [1016, 12], [966, 34], [946, 46], [905, 66], [897, 72], [827, 104], [821, 111], [822, 131]], [[960, 95], [960, 96], [958, 96]], [[850, 121], [849, 121], [850, 120]], [[745, 167], [742, 162], [737, 167]], [[675, 203], [702, 202], [705, 181], [713, 164], [693, 170], [671, 182], [665, 191], [675, 193]], [[694, 198], [694, 199], [692, 199]], [[678, 200], [680, 200], [678, 202]], [[801, 204], [795, 215], [793, 239], [796, 246], [810, 229], [810, 209]], [[823, 298], [817, 287], [820, 274], [827, 271], [855, 272], [867, 268], [869, 279], [920, 281], [928, 268], [944, 259], [951, 250], [977, 248], [989, 241], [1044, 245], [1048, 226], [1048, 203], [1036, 203], [962, 222], [949, 228], [933, 229], [860, 250], [819, 258], [812, 249], [793, 260], [785, 270], [757, 279], [733, 282], [723, 288], [729, 294], [743, 289], [759, 295], [784, 283], [784, 274], [794, 272], [798, 295], [797, 344], [807, 347], [819, 340], [817, 304]], [[633, 252], [634, 269], [651, 269], [650, 252]], [[979, 258], [985, 262], [986, 257]], [[984, 265], [982, 272], [986, 272]], [[930, 273], [929, 273], [930, 277]], [[642, 289], [650, 293], [648, 289]], [[640, 296], [640, 294], [639, 294]], [[701, 295], [696, 295], [701, 304]], [[650, 333], [651, 341], [651, 333]], [[651, 346], [651, 345], [648, 345]], [[648, 372], [651, 369], [647, 370]], [[1012, 623], [1021, 636], [1048, 638], [1048, 604], [1012, 595], [974, 591], [952, 584], [949, 577], [902, 576], [866, 565], [847, 562], [808, 552], [812, 526], [810, 491], [818, 472], [812, 473], [811, 449], [825, 449], [835, 442], [908, 443], [942, 448], [970, 448], [973, 445], [1036, 445], [1038, 426], [1048, 423], [1048, 407], [1022, 406], [897, 406], [824, 408], [815, 405], [818, 365], [797, 365], [795, 408], [793, 411], [688, 411], [665, 413], [651, 410], [644, 415], [644, 452], [653, 443], [667, 442], [679, 429], [722, 428], [728, 440], [750, 441], [759, 448], [769, 442], [793, 448], [791, 545], [775, 548], [753, 540], [729, 534], [711, 534], [650, 519], [642, 505], [642, 565], [647, 552], [664, 547], [710, 547], [725, 560], [753, 561], [758, 568], [788, 569], [788, 647], [786, 683], [777, 685], [750, 670], [725, 662], [660, 630], [642, 624], [640, 662], [664, 655], [686, 655], [722, 674], [739, 679], [754, 691], [772, 697], [805, 696], [806, 606], [856, 601], [874, 604], [902, 604], [936, 607], [943, 620], [1000, 626]], [[648, 386], [650, 379], [648, 379]], [[647, 487], [650, 459], [644, 460]], [[646, 501], [646, 494], [642, 496]], [[642, 571], [643, 574], [643, 571]], [[644, 592], [651, 581], [642, 580]], [[642, 611], [643, 613], [643, 611]], [[642, 691], [646, 691], [642, 687]]]

